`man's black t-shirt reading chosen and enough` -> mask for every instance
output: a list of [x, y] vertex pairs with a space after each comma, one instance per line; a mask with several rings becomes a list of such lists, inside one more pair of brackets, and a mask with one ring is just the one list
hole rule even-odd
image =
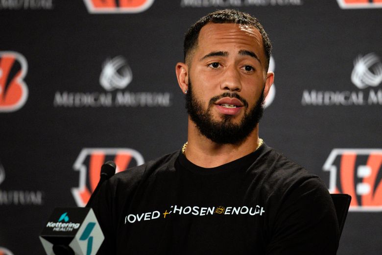
[[98, 254], [320, 254], [338, 247], [322, 181], [265, 144], [215, 168], [181, 152], [116, 174], [92, 207]]

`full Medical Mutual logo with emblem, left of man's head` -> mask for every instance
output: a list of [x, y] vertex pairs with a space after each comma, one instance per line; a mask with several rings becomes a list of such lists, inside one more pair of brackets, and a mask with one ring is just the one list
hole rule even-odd
[[[131, 92], [125, 88], [133, 80], [133, 72], [123, 56], [108, 57], [100, 65], [99, 85], [106, 92], [56, 91], [54, 107], [169, 107], [170, 92]], [[133, 84], [132, 84], [133, 85]], [[78, 86], [80, 87], [80, 86]]]

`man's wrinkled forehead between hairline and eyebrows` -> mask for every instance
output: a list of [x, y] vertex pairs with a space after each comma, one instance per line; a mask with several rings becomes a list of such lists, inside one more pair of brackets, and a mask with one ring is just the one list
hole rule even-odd
[[209, 23], [200, 30], [196, 52], [203, 54], [207, 51], [229, 52], [236, 49], [254, 51], [262, 63], [265, 59], [263, 37], [256, 27]]

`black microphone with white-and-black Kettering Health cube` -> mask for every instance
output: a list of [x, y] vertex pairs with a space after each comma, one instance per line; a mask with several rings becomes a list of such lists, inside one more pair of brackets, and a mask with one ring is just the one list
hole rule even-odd
[[101, 175], [93, 195], [85, 208], [54, 208], [40, 235], [48, 255], [95, 255], [104, 238], [90, 208], [101, 184], [116, 172], [116, 164], [108, 161], [101, 167]]

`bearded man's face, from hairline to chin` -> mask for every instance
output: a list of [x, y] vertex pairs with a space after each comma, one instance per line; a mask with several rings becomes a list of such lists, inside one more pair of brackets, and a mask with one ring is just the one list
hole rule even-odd
[[[187, 108], [216, 143], [238, 143], [259, 122], [270, 80], [260, 32], [239, 24], [207, 24], [188, 61]], [[192, 85], [191, 85], [192, 81]]]

